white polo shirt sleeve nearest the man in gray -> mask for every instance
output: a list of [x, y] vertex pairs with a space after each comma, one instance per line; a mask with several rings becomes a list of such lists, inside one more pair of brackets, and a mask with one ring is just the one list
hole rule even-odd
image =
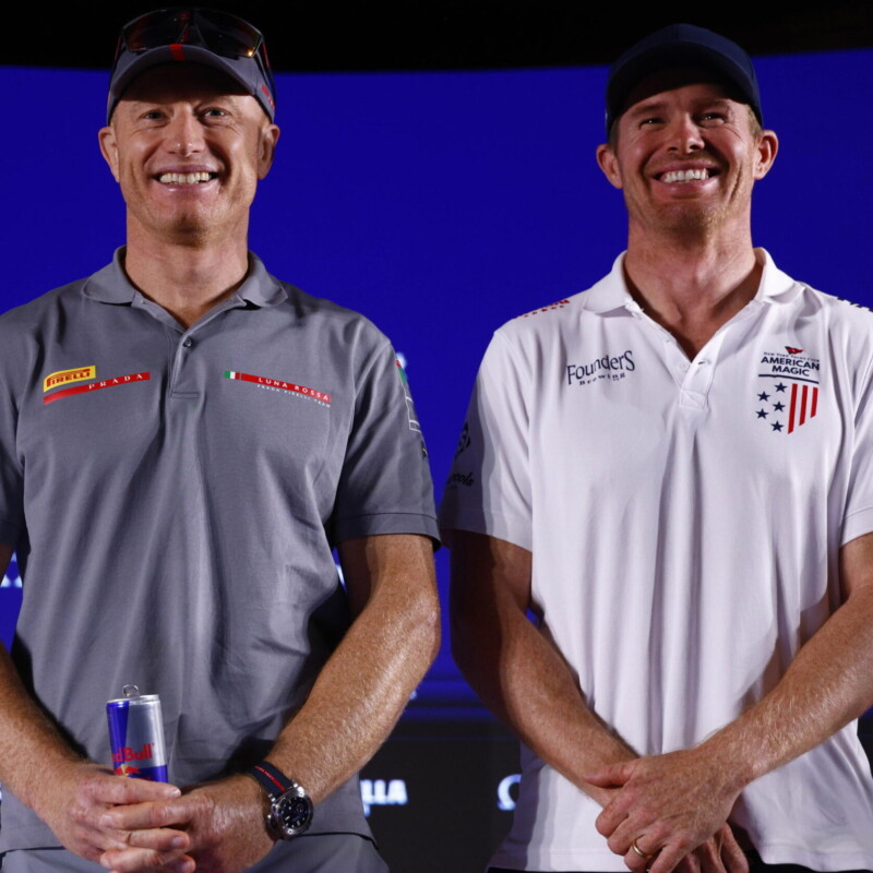
[[501, 332], [482, 359], [440, 507], [443, 529], [533, 550], [528, 368]]

